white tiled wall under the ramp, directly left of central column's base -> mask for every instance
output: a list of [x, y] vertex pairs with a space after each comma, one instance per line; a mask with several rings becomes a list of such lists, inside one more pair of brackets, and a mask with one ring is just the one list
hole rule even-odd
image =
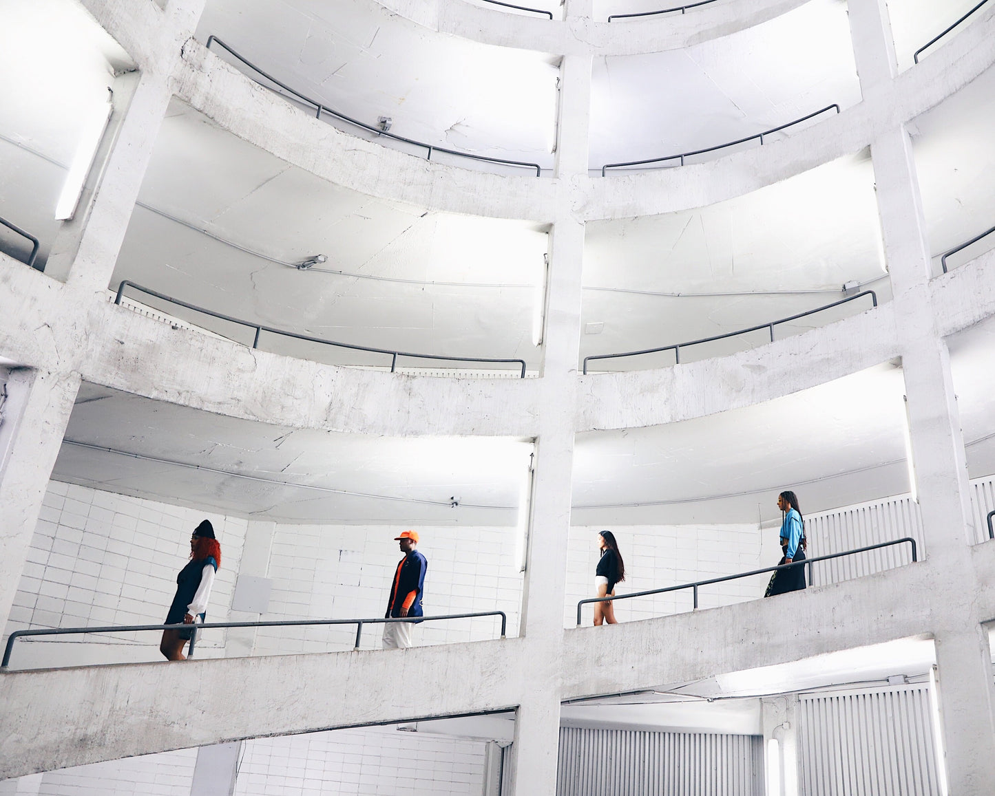
[[246, 741], [236, 796], [469, 796], [484, 785], [483, 741], [366, 727]]

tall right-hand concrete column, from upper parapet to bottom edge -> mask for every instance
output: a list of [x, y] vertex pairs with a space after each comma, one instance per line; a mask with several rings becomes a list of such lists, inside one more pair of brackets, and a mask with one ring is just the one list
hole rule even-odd
[[[951, 796], [995, 792], [995, 692], [976, 606], [973, 516], [946, 344], [929, 299], [929, 248], [911, 143], [901, 126], [872, 145], [885, 253], [895, 292], [915, 487], [927, 561], [937, 574], [933, 628]], [[990, 573], [981, 573], [988, 576]]]

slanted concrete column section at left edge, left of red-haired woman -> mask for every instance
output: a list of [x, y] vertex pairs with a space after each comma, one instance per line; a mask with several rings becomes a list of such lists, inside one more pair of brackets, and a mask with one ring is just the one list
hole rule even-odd
[[7, 380], [0, 424], [0, 627], [7, 624], [79, 389], [77, 374], [18, 369]]

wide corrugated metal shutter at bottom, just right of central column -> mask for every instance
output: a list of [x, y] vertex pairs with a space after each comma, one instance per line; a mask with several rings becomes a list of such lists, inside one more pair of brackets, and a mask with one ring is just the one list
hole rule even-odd
[[561, 727], [557, 796], [762, 796], [763, 738]]

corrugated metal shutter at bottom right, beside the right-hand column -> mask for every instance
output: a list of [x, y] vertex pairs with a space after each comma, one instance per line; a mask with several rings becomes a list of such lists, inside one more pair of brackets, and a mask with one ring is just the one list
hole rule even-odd
[[939, 796], [929, 688], [799, 696], [802, 796]]

